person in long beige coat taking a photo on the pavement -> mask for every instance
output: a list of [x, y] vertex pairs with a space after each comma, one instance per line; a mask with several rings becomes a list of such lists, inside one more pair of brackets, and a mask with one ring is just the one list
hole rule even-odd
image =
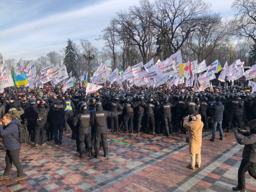
[[202, 129], [204, 127], [199, 113], [193, 114], [192, 121], [189, 121], [189, 116], [185, 117], [183, 126], [188, 129], [189, 145], [188, 150], [191, 155], [191, 162], [187, 168], [195, 169], [195, 166], [200, 168], [201, 164], [201, 146], [202, 146]]

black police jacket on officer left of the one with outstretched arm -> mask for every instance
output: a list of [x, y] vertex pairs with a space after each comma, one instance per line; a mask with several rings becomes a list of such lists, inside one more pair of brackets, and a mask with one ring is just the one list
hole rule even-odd
[[75, 116], [72, 124], [76, 126], [78, 124], [78, 132], [79, 134], [89, 134], [91, 133], [91, 122], [90, 122], [91, 114], [88, 113], [88, 110], [83, 113], [78, 113]]

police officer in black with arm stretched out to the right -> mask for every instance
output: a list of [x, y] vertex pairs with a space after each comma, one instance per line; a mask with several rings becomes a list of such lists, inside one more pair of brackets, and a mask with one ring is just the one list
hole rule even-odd
[[102, 108], [102, 103], [97, 102], [96, 103], [96, 111], [92, 113], [91, 116], [91, 125], [95, 126], [95, 158], [98, 158], [99, 155], [99, 148], [100, 148], [100, 141], [102, 141], [103, 145], [103, 151], [104, 151], [104, 157], [107, 157], [107, 118], [108, 117], [116, 117], [123, 112], [109, 112], [105, 111]]

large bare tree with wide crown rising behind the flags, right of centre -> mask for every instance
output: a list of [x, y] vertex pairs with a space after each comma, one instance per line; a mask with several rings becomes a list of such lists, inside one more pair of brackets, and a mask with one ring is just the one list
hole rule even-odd
[[150, 19], [158, 30], [157, 55], [162, 53], [166, 59], [182, 47], [190, 33], [199, 30], [211, 5], [202, 0], [156, 0], [155, 4]]

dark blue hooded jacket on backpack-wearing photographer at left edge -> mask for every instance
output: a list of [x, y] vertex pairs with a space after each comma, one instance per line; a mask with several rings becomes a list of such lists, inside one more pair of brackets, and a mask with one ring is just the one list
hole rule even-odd
[[[21, 148], [21, 143], [15, 138], [19, 138], [18, 124], [20, 124], [20, 121], [15, 119], [4, 127], [0, 125], [0, 135], [3, 136], [4, 147], [8, 150]], [[11, 134], [15, 135], [15, 137]]]

